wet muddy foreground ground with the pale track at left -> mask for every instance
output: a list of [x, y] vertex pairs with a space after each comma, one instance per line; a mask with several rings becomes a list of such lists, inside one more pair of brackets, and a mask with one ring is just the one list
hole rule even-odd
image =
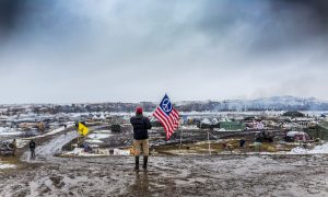
[[0, 171], [0, 196], [328, 196], [325, 154], [161, 155], [134, 171], [133, 157], [55, 157], [75, 137], [38, 139], [35, 160], [20, 150], [17, 169]]

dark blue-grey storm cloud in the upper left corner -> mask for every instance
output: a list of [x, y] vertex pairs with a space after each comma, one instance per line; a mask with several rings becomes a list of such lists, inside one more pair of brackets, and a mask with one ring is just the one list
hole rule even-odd
[[[0, 39], [1, 42], [47, 42], [52, 44], [69, 40], [83, 25], [81, 20], [70, 14], [71, 8], [66, 1], [48, 0], [1, 0], [0, 1]], [[67, 3], [68, 4], [68, 3]], [[2, 35], [2, 36], [1, 36]]]

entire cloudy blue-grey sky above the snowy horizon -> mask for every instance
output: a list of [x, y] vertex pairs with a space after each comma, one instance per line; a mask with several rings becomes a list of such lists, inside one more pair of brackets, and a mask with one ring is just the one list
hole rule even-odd
[[0, 103], [328, 100], [326, 0], [1, 0]]

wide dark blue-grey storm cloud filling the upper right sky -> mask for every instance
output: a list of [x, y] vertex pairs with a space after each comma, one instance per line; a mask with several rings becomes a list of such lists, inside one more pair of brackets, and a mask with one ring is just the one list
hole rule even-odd
[[216, 45], [243, 25], [239, 46], [250, 53], [284, 51], [328, 38], [326, 0], [206, 1], [201, 8], [196, 26]]

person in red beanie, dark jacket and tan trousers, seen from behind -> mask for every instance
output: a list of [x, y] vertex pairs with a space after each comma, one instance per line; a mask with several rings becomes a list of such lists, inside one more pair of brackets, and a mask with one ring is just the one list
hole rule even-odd
[[148, 129], [152, 128], [152, 125], [148, 117], [142, 115], [142, 108], [137, 107], [136, 116], [130, 118], [130, 123], [133, 127], [133, 151], [136, 157], [136, 170], [139, 170], [139, 155], [142, 150], [143, 165], [147, 169], [148, 155], [149, 155], [149, 136]]

